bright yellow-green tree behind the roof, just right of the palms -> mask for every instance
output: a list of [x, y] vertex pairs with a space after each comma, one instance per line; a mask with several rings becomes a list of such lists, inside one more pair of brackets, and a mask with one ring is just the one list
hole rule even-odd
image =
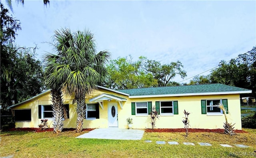
[[118, 57], [107, 65], [108, 77], [104, 86], [112, 89], [131, 89], [154, 87], [157, 80], [153, 75], [144, 71], [146, 57], [132, 61], [132, 57]]

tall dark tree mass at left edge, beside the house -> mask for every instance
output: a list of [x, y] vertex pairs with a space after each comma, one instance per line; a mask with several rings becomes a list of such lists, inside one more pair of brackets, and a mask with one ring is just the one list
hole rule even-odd
[[37, 95], [44, 89], [42, 63], [35, 59], [35, 48], [14, 44], [20, 22], [8, 15], [1, 4], [1, 106], [3, 109]]

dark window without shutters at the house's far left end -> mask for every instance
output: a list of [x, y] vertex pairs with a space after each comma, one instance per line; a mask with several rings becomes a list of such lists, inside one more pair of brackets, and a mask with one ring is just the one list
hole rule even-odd
[[14, 120], [18, 121], [31, 121], [31, 109], [15, 109]]

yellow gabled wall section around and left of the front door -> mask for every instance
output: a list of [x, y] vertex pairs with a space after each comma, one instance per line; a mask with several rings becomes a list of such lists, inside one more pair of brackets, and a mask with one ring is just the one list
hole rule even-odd
[[[101, 95], [103, 93], [107, 94], [113, 94], [117, 95], [116, 93], [112, 91], [106, 91], [104, 89], [99, 89], [97, 91], [94, 91], [91, 95], [86, 96], [86, 103], [94, 103], [94, 102], [89, 102], [89, 99], [97, 97], [98, 95]], [[128, 97], [126, 95], [118, 95], [123, 98]], [[16, 128], [38, 128], [38, 124], [40, 124], [41, 119], [38, 119], [38, 105], [51, 105], [51, 95], [50, 92], [43, 95], [42, 97], [38, 97], [37, 99], [34, 99], [32, 101], [29, 101], [28, 103], [24, 103], [22, 105], [18, 105], [12, 110], [15, 109], [31, 109], [31, 122], [15, 122], [15, 127]], [[77, 118], [77, 113], [76, 113], [76, 104], [72, 104], [74, 99], [74, 95], [68, 95], [64, 94], [63, 95], [63, 103], [64, 104], [69, 104], [69, 119], [64, 121], [64, 128], [76, 128], [76, 118]], [[120, 111], [120, 106], [118, 104], [118, 113]], [[108, 101], [103, 102], [103, 109], [99, 107], [99, 113], [100, 113], [100, 119], [84, 119], [84, 124], [83, 128], [108, 128]], [[52, 128], [52, 119], [48, 119], [48, 124]]]

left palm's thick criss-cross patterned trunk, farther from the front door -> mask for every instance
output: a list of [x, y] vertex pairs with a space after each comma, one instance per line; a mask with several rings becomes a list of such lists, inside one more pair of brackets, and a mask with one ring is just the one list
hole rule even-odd
[[62, 101], [62, 93], [60, 88], [57, 90], [51, 89], [52, 95], [52, 109], [53, 109], [53, 130], [56, 133], [60, 133], [64, 128], [63, 122], [63, 101]]

